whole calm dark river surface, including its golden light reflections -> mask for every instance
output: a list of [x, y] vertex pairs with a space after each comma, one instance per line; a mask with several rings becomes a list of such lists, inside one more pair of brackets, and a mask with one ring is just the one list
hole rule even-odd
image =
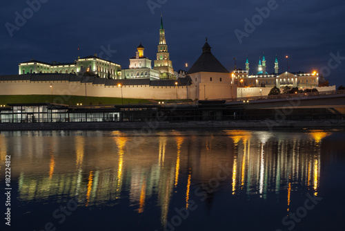
[[6, 228], [345, 230], [344, 150], [344, 130], [1, 132]]

